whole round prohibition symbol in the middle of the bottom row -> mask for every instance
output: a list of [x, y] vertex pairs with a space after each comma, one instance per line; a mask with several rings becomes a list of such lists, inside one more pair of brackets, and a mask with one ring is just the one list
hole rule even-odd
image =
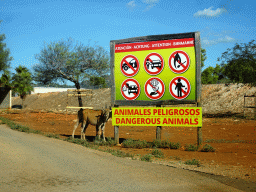
[[145, 83], [144, 90], [149, 99], [157, 100], [164, 95], [165, 85], [160, 78], [152, 77]]

